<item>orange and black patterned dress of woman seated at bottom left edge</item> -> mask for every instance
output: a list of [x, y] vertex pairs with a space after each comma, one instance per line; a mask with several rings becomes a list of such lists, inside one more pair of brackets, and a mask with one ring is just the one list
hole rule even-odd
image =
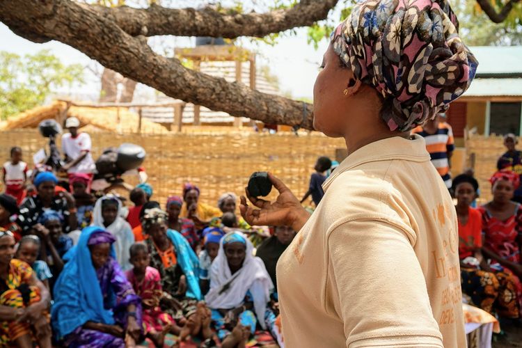
[[[29, 264], [20, 260], [11, 260], [6, 281], [0, 280], [0, 305], [13, 308], [26, 308], [40, 301], [40, 289], [28, 286], [34, 271]], [[8, 347], [17, 338], [31, 334], [27, 323], [10, 321], [0, 322], [0, 347]]]

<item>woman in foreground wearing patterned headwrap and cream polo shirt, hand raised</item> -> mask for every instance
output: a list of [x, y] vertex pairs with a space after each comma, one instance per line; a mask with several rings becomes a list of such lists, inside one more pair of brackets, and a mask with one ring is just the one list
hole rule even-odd
[[[477, 61], [447, 1], [361, 1], [332, 35], [314, 126], [348, 157], [312, 216], [270, 176], [254, 225], [299, 231], [277, 267], [287, 347], [465, 347], [457, 216], [409, 131], [459, 97]], [[258, 207], [260, 209], [255, 209]]]

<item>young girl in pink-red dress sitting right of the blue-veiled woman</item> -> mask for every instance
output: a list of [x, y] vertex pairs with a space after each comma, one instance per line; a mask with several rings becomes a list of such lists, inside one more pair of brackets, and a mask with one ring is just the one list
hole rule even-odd
[[149, 267], [150, 256], [147, 246], [141, 243], [133, 244], [129, 253], [134, 268], [125, 272], [125, 275], [136, 295], [141, 297], [145, 337], [150, 338], [156, 347], [163, 347], [166, 333], [179, 335], [181, 328], [177, 326], [171, 315], [164, 313], [159, 307], [163, 294], [161, 276], [157, 269]]

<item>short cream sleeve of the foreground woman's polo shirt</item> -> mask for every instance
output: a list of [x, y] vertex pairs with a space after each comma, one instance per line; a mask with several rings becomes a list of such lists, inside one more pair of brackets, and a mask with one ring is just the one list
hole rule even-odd
[[328, 247], [326, 301], [342, 318], [346, 347], [443, 347], [422, 269], [401, 228], [349, 221], [331, 232]]

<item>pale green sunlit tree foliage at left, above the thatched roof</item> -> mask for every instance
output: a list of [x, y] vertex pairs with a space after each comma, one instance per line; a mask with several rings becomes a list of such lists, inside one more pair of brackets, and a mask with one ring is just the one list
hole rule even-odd
[[55, 88], [83, 81], [81, 65], [64, 65], [47, 49], [25, 56], [0, 52], [1, 119], [41, 105]]

